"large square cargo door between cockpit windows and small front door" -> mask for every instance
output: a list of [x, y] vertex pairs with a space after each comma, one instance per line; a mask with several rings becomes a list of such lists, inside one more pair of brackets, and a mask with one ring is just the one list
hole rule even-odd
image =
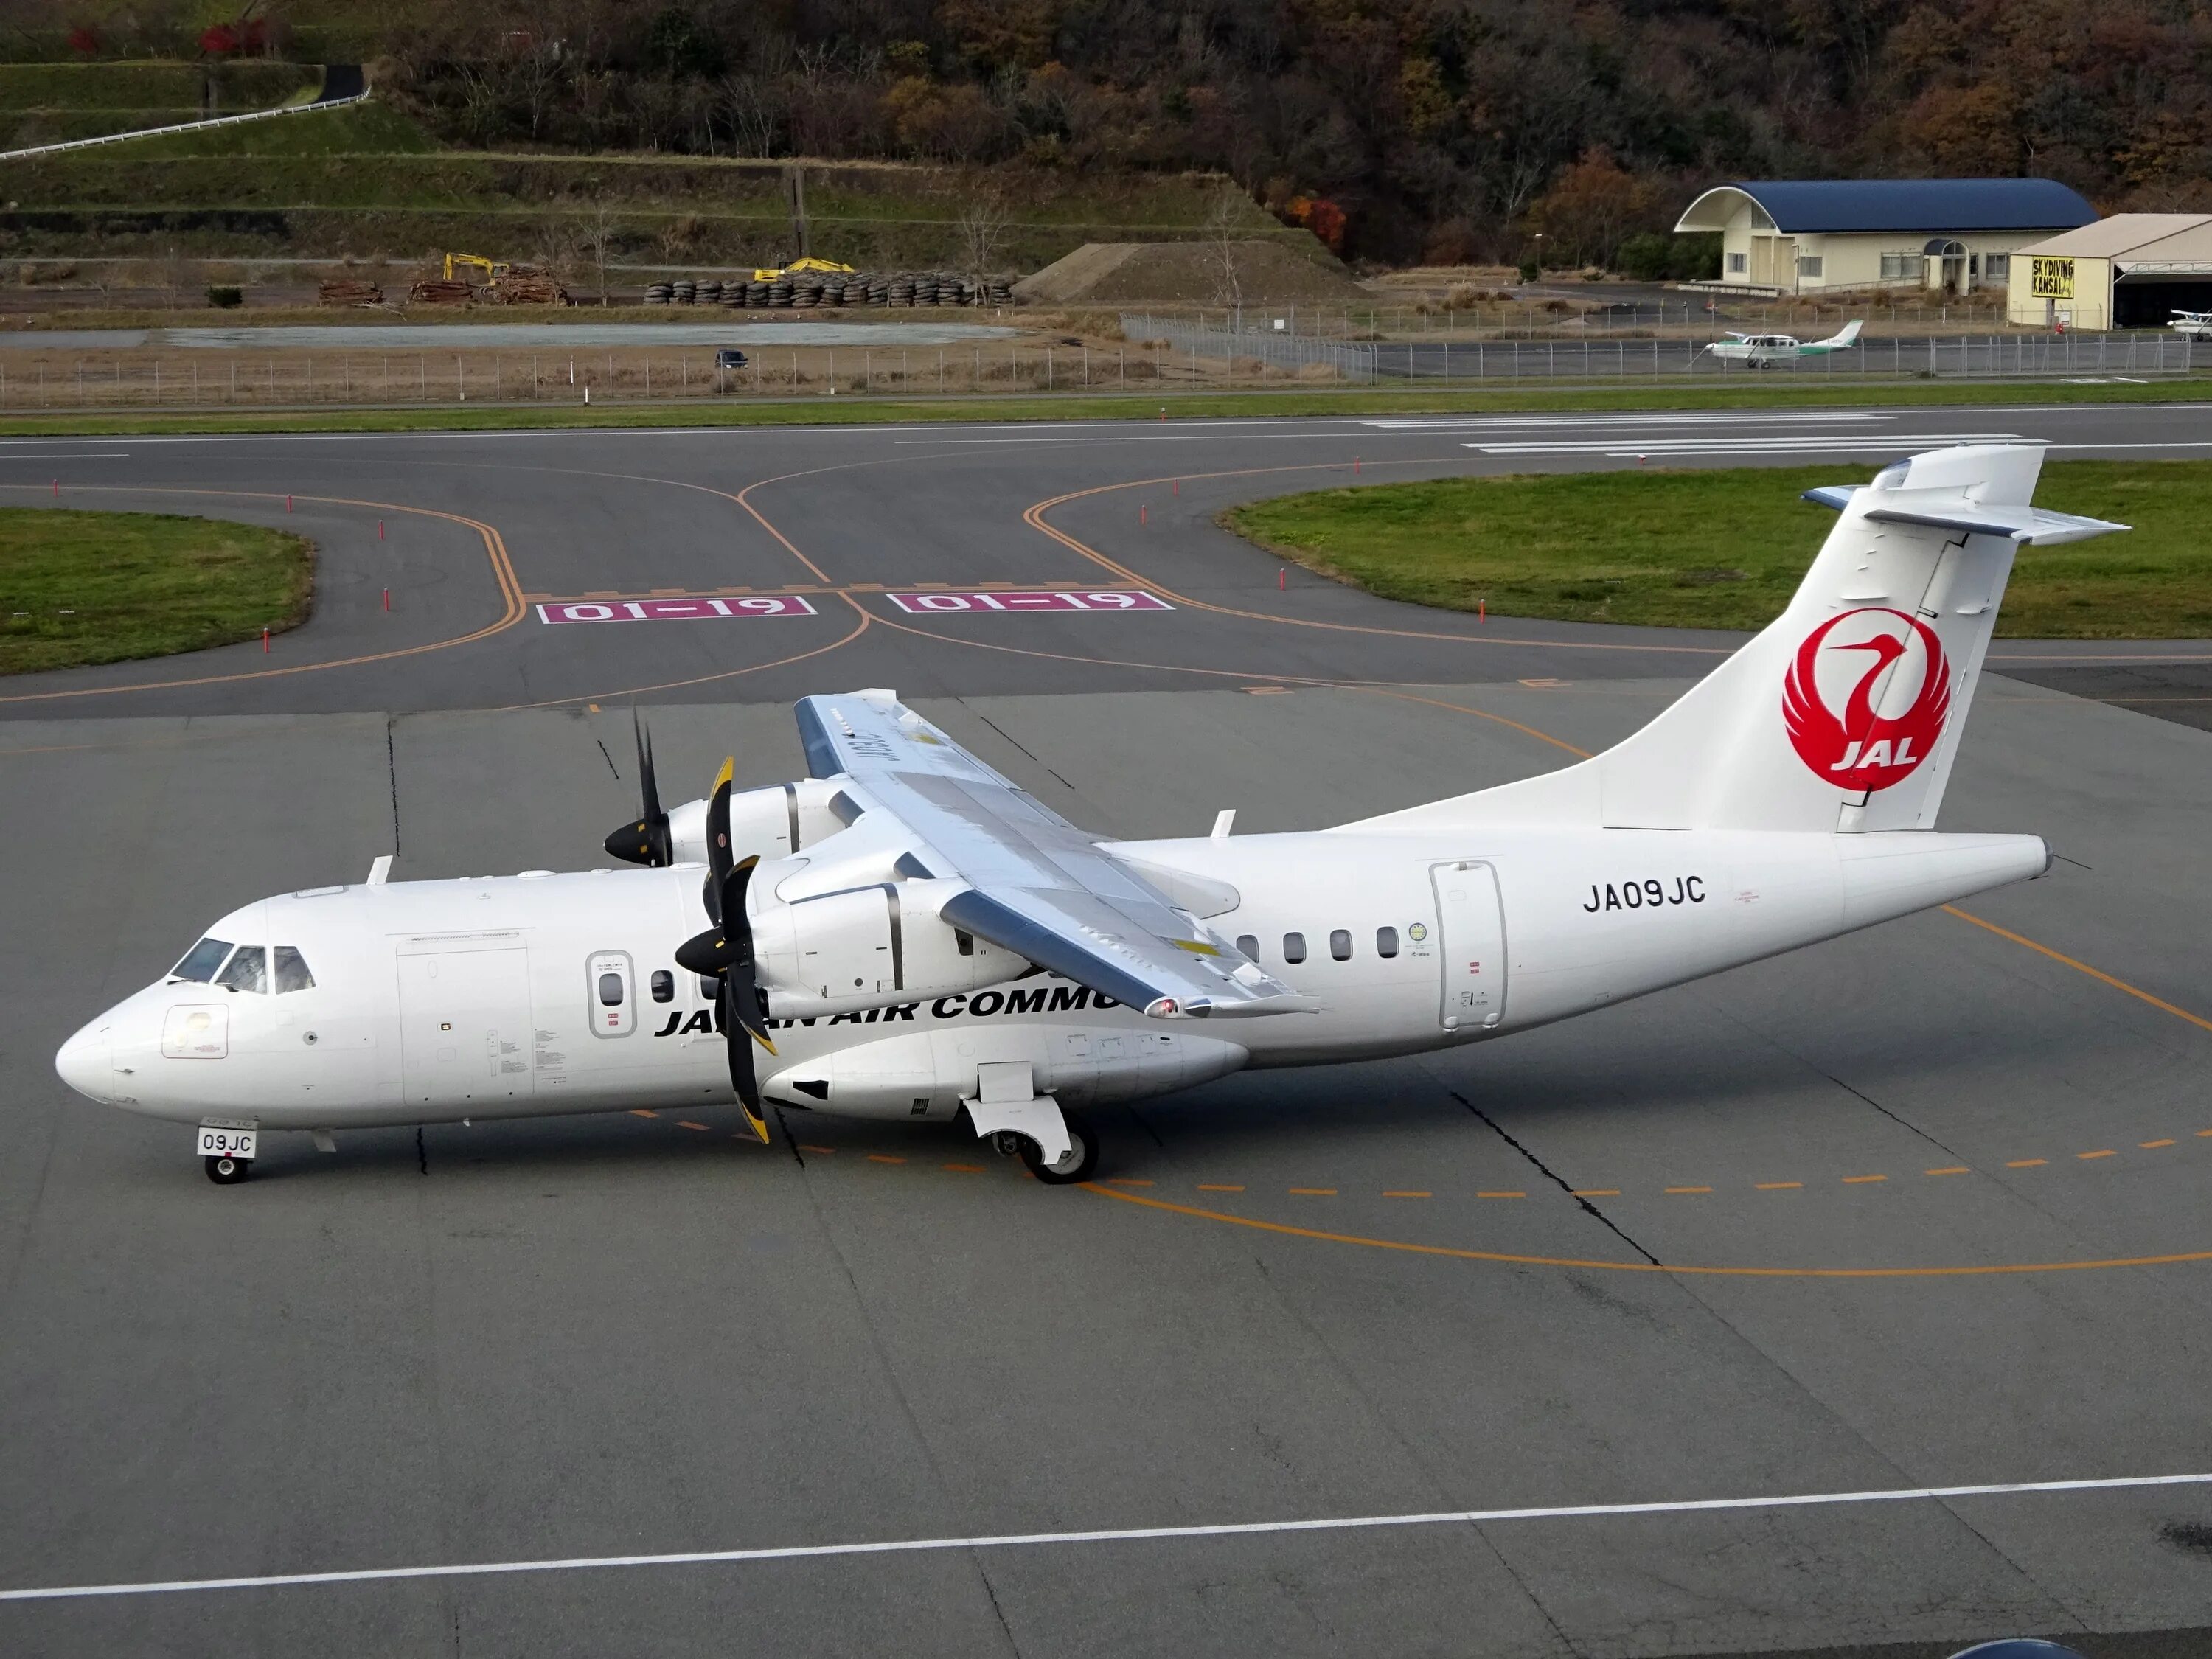
[[522, 940], [403, 945], [400, 1091], [409, 1106], [526, 1099], [531, 971]]

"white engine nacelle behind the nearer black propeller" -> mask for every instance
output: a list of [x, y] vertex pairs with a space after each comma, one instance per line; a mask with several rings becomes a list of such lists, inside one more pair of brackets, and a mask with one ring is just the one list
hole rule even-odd
[[[754, 889], [759, 891], [759, 887]], [[770, 898], [752, 916], [752, 960], [779, 1020], [883, 1009], [978, 991], [1029, 960], [938, 916], [958, 880], [887, 880], [821, 898]]]

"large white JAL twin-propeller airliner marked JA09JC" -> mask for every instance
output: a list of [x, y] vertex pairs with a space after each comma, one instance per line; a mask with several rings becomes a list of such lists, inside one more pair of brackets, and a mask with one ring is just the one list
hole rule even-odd
[[1936, 834], [2042, 449], [1916, 456], [1840, 511], [1790, 608], [1626, 743], [1336, 830], [1099, 841], [887, 690], [799, 703], [810, 776], [608, 836], [648, 869], [316, 887], [223, 916], [77, 1031], [80, 1093], [265, 1130], [734, 1099], [956, 1121], [1044, 1181], [1068, 1106], [1245, 1066], [1489, 1042], [2039, 876]]

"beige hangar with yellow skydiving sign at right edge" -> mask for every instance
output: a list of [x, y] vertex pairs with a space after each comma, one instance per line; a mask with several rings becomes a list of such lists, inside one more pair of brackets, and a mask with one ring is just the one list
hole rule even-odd
[[2028, 243], [2004, 316], [2028, 327], [2166, 327], [2212, 312], [2212, 212], [2117, 212]]

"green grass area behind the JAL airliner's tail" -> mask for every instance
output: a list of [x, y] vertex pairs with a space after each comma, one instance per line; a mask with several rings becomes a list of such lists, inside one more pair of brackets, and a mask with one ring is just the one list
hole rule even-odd
[[[1798, 500], [1869, 467], [1442, 478], [1283, 495], [1223, 515], [1272, 553], [1387, 599], [1557, 622], [1763, 628], [1834, 515]], [[2212, 635], [2212, 462], [2059, 460], [2037, 504], [2135, 529], [2024, 546], [2006, 639]]]

